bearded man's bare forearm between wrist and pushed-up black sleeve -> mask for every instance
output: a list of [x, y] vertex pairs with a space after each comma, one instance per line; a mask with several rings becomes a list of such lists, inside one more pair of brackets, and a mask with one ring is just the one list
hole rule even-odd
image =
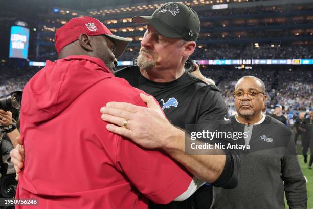
[[222, 150], [211, 150], [208, 155], [187, 155], [185, 133], [174, 128], [166, 140], [164, 150], [198, 179], [212, 183], [221, 175], [226, 156]]

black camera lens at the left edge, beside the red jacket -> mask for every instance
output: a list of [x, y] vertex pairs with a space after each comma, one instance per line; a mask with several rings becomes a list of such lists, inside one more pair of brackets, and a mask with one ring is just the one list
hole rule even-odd
[[4, 111], [20, 110], [22, 91], [11, 92], [0, 97], [0, 109]]

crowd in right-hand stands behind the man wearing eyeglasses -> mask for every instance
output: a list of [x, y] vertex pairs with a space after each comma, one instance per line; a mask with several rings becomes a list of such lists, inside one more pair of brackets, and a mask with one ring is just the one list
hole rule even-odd
[[[269, 97], [267, 107], [274, 108], [277, 103], [289, 112], [313, 108], [313, 71], [298, 67], [253, 67], [253, 69], [214, 69], [202, 66], [203, 74], [213, 79], [219, 87], [230, 108], [234, 106], [233, 91], [236, 81], [245, 75], [253, 75], [263, 80]], [[225, 73], [228, 72], [228, 73]], [[288, 81], [288, 82], [286, 82]]]

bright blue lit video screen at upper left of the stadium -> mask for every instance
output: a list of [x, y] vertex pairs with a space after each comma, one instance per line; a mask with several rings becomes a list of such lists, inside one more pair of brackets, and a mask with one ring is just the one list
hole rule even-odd
[[27, 59], [28, 45], [29, 29], [21, 26], [12, 26], [9, 57]]

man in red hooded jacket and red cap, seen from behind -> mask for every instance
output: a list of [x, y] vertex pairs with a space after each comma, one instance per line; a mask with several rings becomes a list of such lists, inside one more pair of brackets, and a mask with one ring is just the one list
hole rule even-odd
[[57, 30], [60, 59], [47, 61], [23, 91], [17, 199], [37, 199], [34, 208], [147, 208], [148, 199], [184, 200], [202, 185], [165, 152], [106, 130], [103, 103], [145, 106], [142, 91], [112, 73], [129, 41], [90, 17]]

